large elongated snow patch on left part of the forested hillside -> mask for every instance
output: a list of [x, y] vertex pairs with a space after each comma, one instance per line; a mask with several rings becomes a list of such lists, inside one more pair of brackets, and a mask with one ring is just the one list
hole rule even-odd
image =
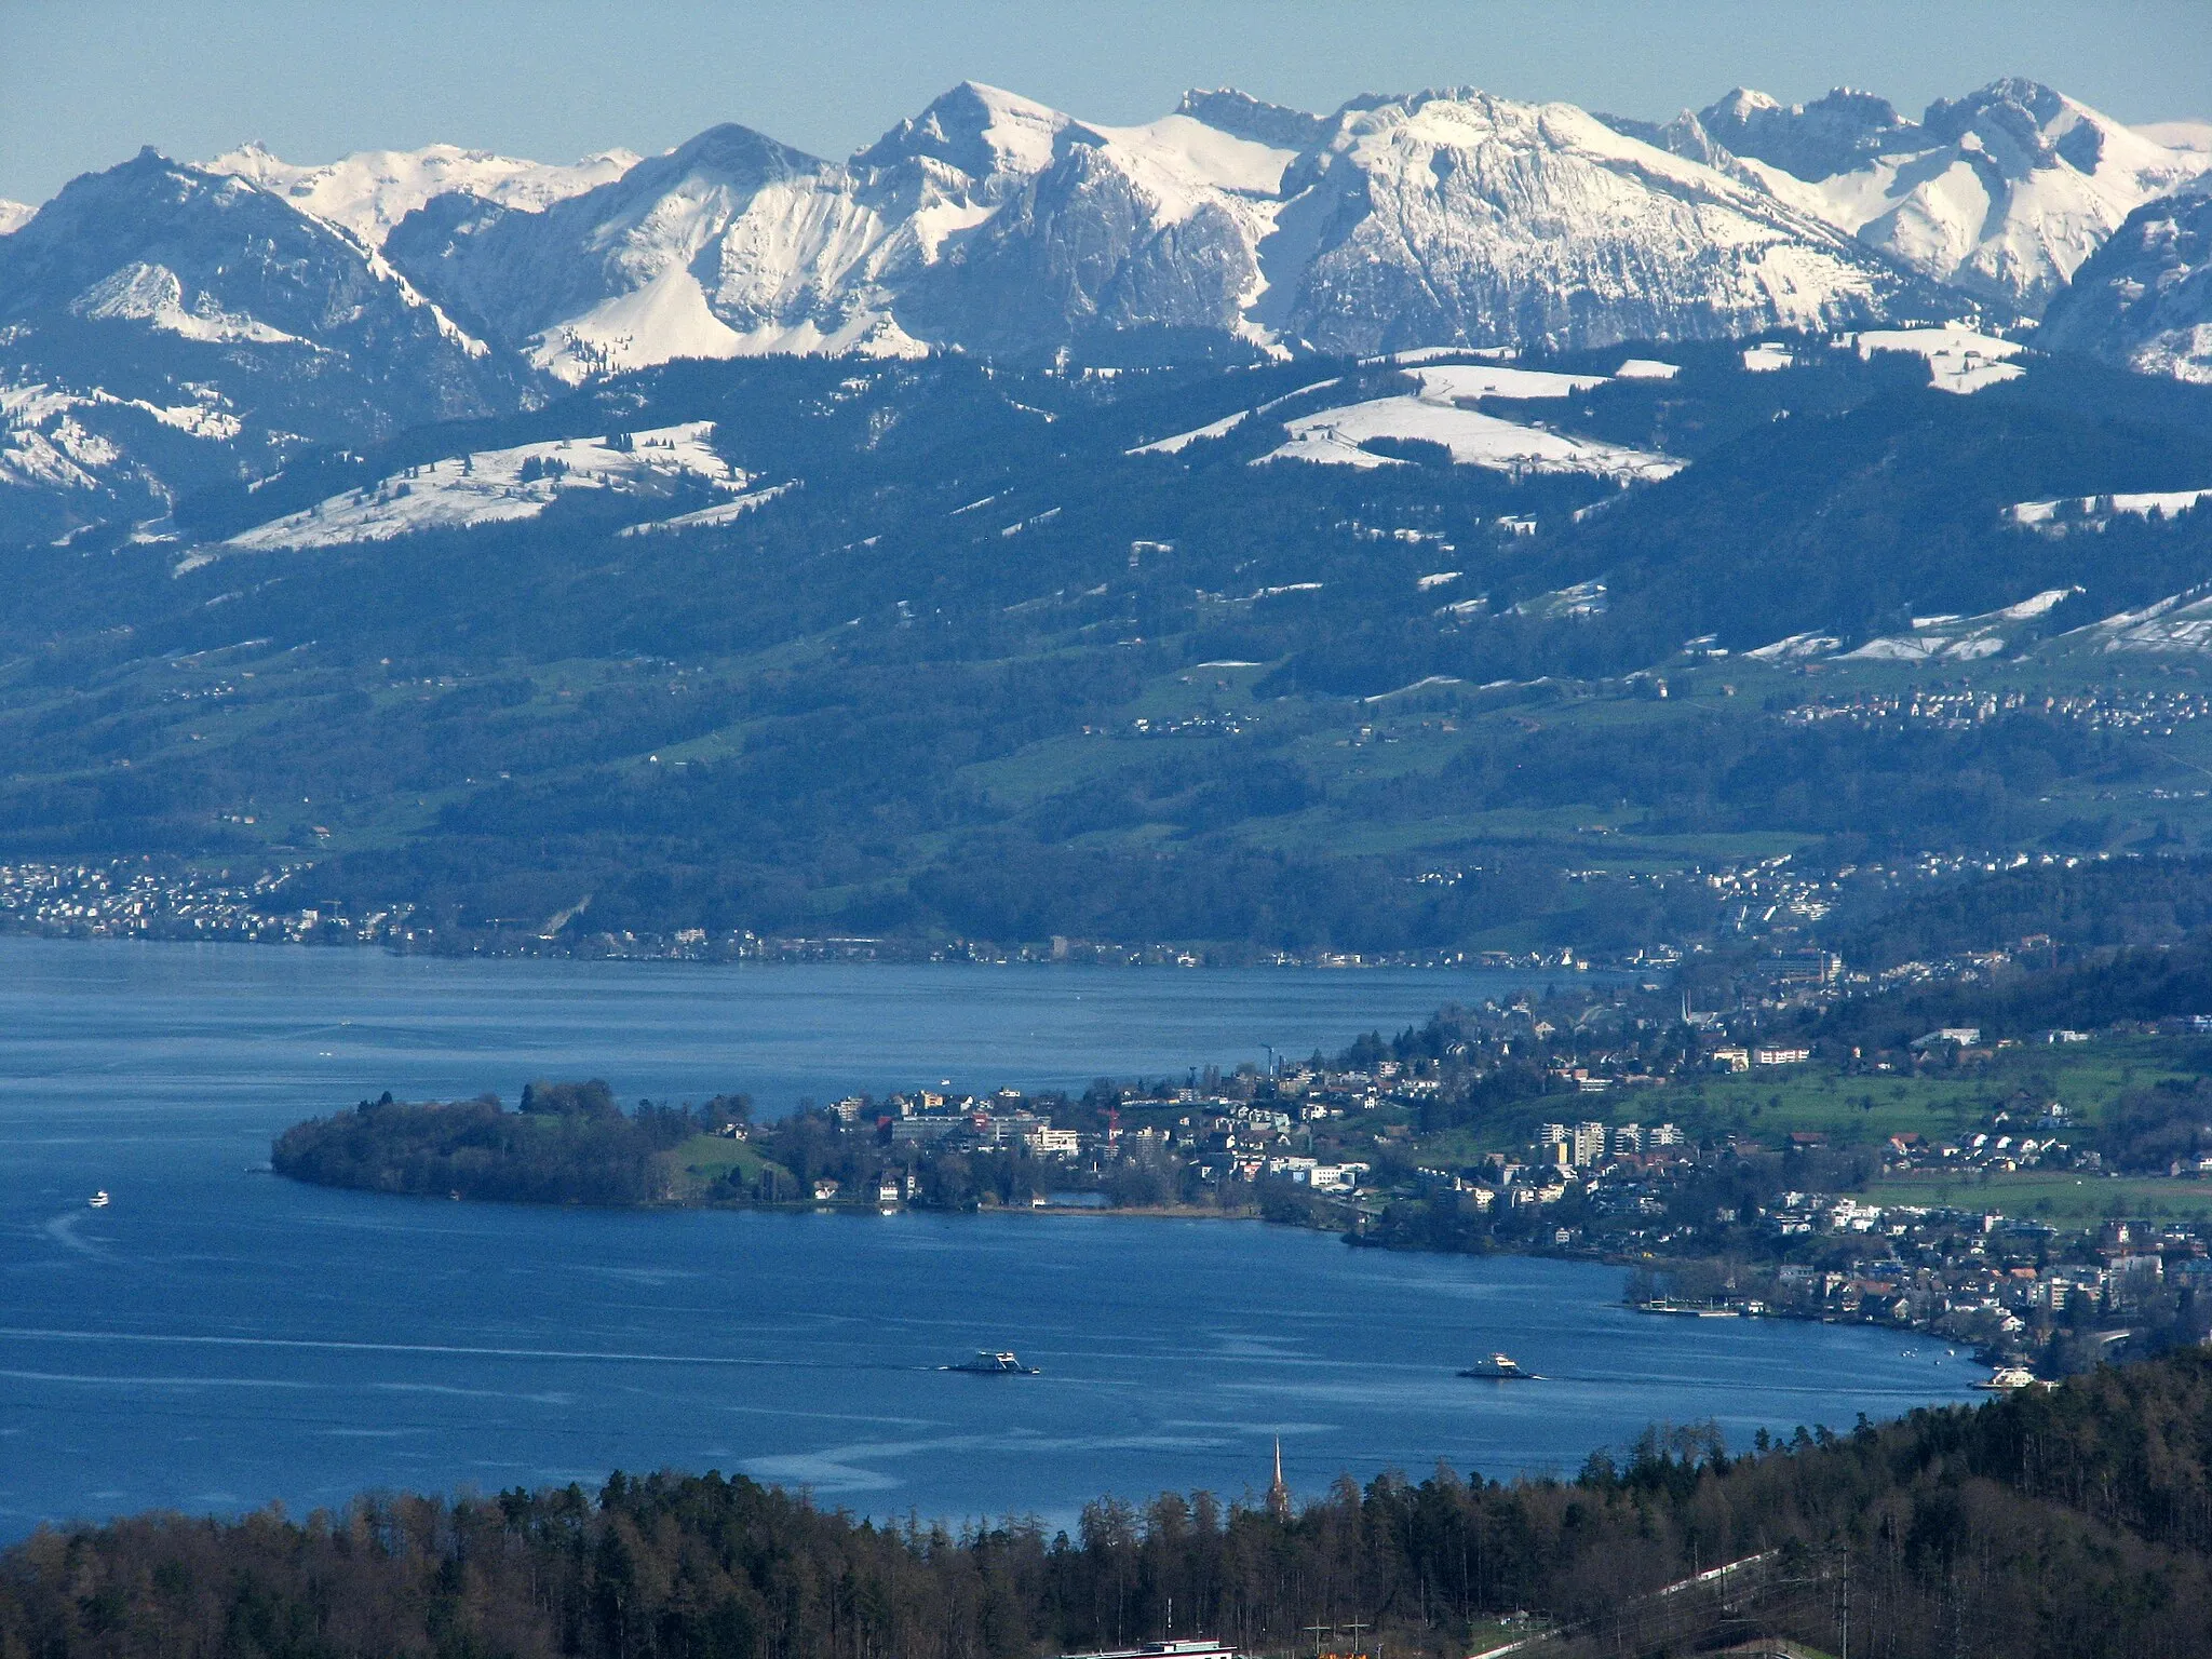
[[232, 535], [221, 546], [268, 553], [502, 524], [538, 518], [571, 489], [635, 495], [668, 495], [686, 482], [745, 489], [752, 480], [714, 453], [712, 434], [712, 420], [692, 420], [633, 431], [622, 447], [606, 438], [553, 438], [513, 449], [480, 449], [330, 495], [301, 513]]

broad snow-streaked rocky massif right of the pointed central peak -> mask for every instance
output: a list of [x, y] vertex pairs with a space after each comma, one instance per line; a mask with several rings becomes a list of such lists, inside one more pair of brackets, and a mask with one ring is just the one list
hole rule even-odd
[[1480, 88], [1354, 100], [1283, 190], [1252, 314], [1318, 349], [1851, 327], [1907, 288], [1756, 181]]

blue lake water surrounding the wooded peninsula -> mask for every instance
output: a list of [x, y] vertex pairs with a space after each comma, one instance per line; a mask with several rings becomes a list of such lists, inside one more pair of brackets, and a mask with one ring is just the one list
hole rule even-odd
[[[310, 1113], [604, 1075], [626, 1099], [1084, 1084], [1307, 1053], [1506, 980], [442, 962], [0, 940], [0, 1535], [146, 1506], [719, 1467], [869, 1513], [1573, 1471], [1652, 1420], [1969, 1398], [1918, 1338], [1657, 1321], [1617, 1270], [1256, 1223], [597, 1214], [248, 1172]], [[84, 1199], [106, 1188], [104, 1210]], [[1015, 1347], [1035, 1378], [933, 1367]], [[1504, 1347], [1546, 1383], [1453, 1376]], [[1911, 1352], [1907, 1352], [1911, 1349]]]

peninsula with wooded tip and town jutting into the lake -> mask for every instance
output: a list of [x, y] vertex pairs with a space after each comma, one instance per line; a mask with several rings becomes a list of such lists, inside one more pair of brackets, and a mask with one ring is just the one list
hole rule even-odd
[[[1781, 964], [1770, 989], [1836, 967]], [[1980, 1356], [1993, 1387], [2212, 1334], [2212, 1018], [1898, 1048], [1741, 1024], [1628, 989], [1489, 1000], [1336, 1057], [759, 1117], [741, 1095], [624, 1117], [606, 1084], [531, 1084], [522, 1113], [573, 1128], [522, 1150], [491, 1097], [387, 1097], [290, 1130], [276, 1168], [434, 1197], [1248, 1217], [1595, 1259], [1652, 1316], [1896, 1327]], [[467, 1150], [493, 1144], [504, 1164]]]

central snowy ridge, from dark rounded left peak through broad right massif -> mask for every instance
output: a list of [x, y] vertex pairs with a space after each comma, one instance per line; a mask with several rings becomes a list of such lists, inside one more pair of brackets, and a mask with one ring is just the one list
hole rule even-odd
[[544, 212], [431, 204], [385, 243], [453, 316], [582, 380], [672, 356], [1584, 345], [1885, 316], [1913, 283], [1770, 190], [1564, 104], [1321, 119], [1192, 93], [1077, 122], [962, 84], [849, 161], [721, 126]]

